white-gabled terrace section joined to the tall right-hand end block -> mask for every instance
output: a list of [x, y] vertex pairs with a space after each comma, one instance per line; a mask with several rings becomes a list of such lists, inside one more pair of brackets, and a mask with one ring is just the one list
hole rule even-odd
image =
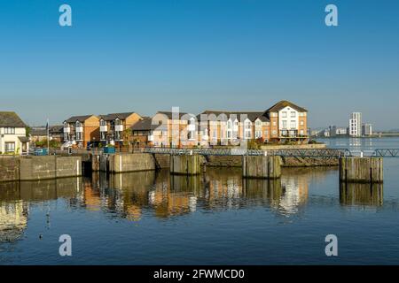
[[197, 116], [201, 145], [227, 145], [240, 140], [305, 142], [307, 110], [280, 101], [266, 111], [204, 111]]

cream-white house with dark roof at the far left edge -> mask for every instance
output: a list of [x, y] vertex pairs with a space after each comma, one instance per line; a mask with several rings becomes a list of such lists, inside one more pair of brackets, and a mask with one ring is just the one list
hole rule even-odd
[[25, 123], [15, 112], [0, 111], [0, 154], [25, 154], [28, 149]]

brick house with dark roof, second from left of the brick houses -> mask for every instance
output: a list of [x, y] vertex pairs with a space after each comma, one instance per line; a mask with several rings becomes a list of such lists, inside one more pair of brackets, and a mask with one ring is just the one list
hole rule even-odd
[[113, 113], [100, 115], [99, 117], [99, 133], [100, 142], [104, 144], [115, 144], [121, 146], [126, 139], [130, 140], [129, 134], [124, 132], [129, 131], [129, 128], [142, 119], [136, 112]]

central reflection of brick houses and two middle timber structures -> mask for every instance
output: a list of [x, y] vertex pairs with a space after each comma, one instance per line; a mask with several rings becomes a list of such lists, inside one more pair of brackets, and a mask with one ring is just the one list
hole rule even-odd
[[309, 171], [287, 172], [281, 180], [243, 179], [239, 169], [220, 168], [208, 168], [200, 176], [150, 171], [113, 174], [107, 179], [104, 174], [93, 173], [91, 179], [84, 180], [84, 193], [77, 203], [88, 210], [107, 210], [133, 221], [140, 220], [144, 213], [168, 218], [198, 209], [228, 210], [256, 205], [288, 216], [306, 204]]

